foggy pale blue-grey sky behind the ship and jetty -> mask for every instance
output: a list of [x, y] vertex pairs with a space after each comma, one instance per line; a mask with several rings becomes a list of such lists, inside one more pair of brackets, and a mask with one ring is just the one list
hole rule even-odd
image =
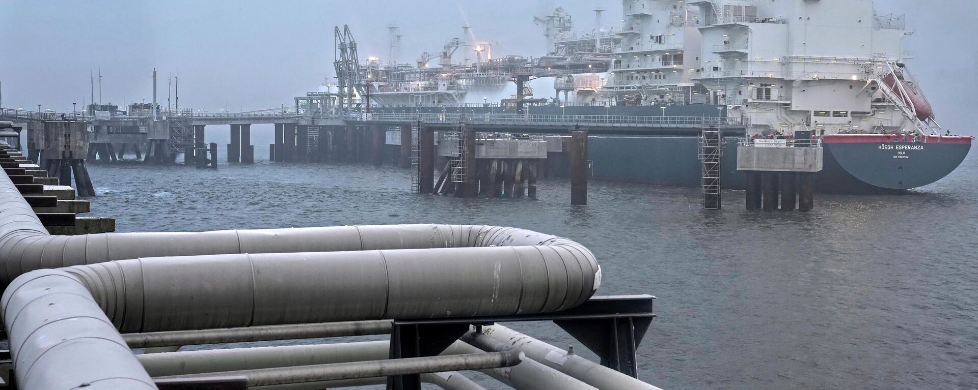
[[[166, 78], [179, 69], [182, 108], [274, 108], [333, 77], [336, 24], [350, 25], [361, 58], [386, 57], [388, 22], [404, 35], [401, 62], [439, 51], [461, 37], [464, 22], [476, 38], [499, 42], [496, 57], [536, 57], [545, 41], [533, 15], [560, 5], [576, 27], [591, 28], [599, 3], [603, 24], [618, 26], [621, 2], [607, 0], [0, 0], [3, 106], [70, 110], [88, 100], [89, 71], [100, 67], [104, 103], [150, 101], [156, 66], [163, 106]], [[978, 1], [876, 4], [882, 14], [907, 14], [917, 30], [907, 38], [916, 56], [909, 64], [938, 121], [978, 135]]]

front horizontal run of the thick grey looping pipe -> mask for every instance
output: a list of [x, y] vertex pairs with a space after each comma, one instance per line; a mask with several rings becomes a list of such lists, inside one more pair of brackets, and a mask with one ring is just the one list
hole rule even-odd
[[578, 260], [547, 246], [158, 257], [61, 270], [124, 332], [549, 313], [593, 293]]

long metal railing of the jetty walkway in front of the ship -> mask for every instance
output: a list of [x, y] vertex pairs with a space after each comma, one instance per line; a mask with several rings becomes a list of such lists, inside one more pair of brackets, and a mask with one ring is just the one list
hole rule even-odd
[[694, 127], [719, 125], [747, 127], [746, 117], [722, 116], [645, 116], [645, 115], [537, 115], [513, 113], [355, 113], [345, 119], [353, 121], [411, 122], [457, 124], [462, 116], [471, 124], [543, 125], [543, 126], [610, 126], [610, 127]]

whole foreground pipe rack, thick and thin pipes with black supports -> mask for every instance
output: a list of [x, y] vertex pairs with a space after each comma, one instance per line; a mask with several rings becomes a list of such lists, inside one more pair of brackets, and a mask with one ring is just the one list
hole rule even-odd
[[[654, 297], [594, 296], [596, 257], [570, 239], [467, 225], [58, 236], [20, 170], [0, 175], [0, 378], [19, 389], [480, 389], [466, 369], [517, 389], [657, 389], [636, 379]], [[527, 321], [554, 322], [600, 365], [493, 325]], [[380, 333], [390, 340], [131, 350]]]

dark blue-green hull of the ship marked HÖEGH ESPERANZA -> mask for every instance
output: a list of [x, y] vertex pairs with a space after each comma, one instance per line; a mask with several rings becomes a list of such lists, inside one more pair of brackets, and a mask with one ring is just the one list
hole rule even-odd
[[[590, 137], [592, 177], [677, 187], [699, 187], [696, 137]], [[825, 144], [823, 169], [816, 174], [819, 192], [892, 194], [941, 180], [964, 160], [969, 143]], [[736, 170], [736, 139], [725, 139], [721, 185], [742, 190]]]

